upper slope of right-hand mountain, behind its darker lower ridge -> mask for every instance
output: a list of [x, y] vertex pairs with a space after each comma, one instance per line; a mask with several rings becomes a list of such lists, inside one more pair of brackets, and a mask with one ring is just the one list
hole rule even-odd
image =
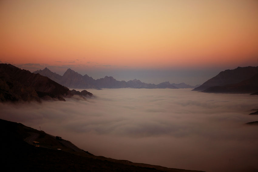
[[214, 86], [226, 86], [229, 84], [236, 84], [240, 83], [246, 79], [250, 79], [251, 77], [255, 76], [258, 73], [258, 66], [257, 67], [238, 67], [233, 70], [225, 70], [220, 72], [217, 76], [209, 79], [201, 86], [196, 87], [193, 91], [204, 91], [209, 87]]

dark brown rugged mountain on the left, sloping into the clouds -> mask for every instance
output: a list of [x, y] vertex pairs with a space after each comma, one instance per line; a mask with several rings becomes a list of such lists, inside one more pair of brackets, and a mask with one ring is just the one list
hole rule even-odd
[[71, 91], [46, 76], [19, 69], [11, 64], [0, 64], [0, 101], [40, 101], [40, 98], [65, 100], [63, 96], [75, 94], [92, 96], [85, 91]]

